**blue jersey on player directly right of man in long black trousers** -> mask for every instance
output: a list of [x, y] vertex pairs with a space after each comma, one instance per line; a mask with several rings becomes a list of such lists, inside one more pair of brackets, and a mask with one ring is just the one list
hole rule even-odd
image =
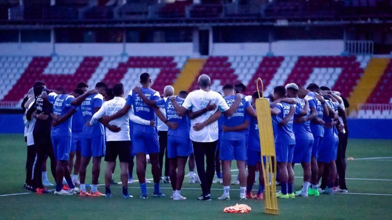
[[[224, 100], [226, 101], [227, 105], [230, 107], [235, 102], [236, 96], [235, 95], [226, 96], [224, 97]], [[234, 112], [234, 114], [232, 114], [231, 116], [223, 115], [223, 125], [227, 127], [237, 126], [244, 123], [245, 119], [250, 122], [250, 119], [246, 117], [246, 111], [245, 111], [245, 109], [249, 106], [251, 106], [250, 102], [246, 101], [245, 98], [243, 98], [240, 102], [238, 109], [236, 110], [236, 112]], [[241, 132], [223, 132], [222, 139], [245, 140], [245, 133], [246, 133], [246, 129]]]

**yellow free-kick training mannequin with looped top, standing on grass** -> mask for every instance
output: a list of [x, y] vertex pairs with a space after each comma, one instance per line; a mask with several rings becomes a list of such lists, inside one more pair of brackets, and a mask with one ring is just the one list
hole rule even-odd
[[[261, 82], [261, 97], [258, 82]], [[276, 199], [276, 154], [273, 138], [270, 102], [264, 98], [263, 81], [256, 81], [259, 98], [256, 99], [257, 123], [259, 125], [261, 163], [263, 165], [263, 177], [265, 184], [264, 206], [265, 213], [278, 215], [278, 202]], [[266, 158], [264, 163], [263, 158]], [[270, 175], [269, 175], [270, 174]], [[270, 184], [271, 182], [271, 184]]]

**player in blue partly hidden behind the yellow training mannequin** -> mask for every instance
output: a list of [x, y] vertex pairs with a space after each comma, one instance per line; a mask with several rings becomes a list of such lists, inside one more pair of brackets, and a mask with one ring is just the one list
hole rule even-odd
[[[259, 98], [259, 92], [254, 92], [252, 94], [252, 107], [255, 109], [256, 99]], [[261, 163], [261, 148], [260, 148], [260, 135], [259, 135], [259, 125], [257, 118], [252, 118], [249, 126], [249, 136], [248, 145], [246, 148], [247, 155], [247, 166], [248, 166], [248, 176], [246, 184], [246, 198], [263, 199], [264, 191], [264, 177], [263, 177], [263, 166]], [[255, 182], [255, 172], [259, 172], [259, 190], [256, 195], [252, 195], [252, 187]]]

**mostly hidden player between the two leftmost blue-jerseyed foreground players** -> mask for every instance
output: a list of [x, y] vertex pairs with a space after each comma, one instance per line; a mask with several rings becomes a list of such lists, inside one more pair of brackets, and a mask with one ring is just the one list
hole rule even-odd
[[[82, 94], [87, 91], [87, 84], [80, 82], [76, 85], [76, 89], [80, 89]], [[76, 90], [74, 90], [75, 92]], [[80, 91], [79, 91], [80, 93]], [[70, 160], [68, 164], [70, 166], [70, 171], [72, 172], [72, 181], [73, 184], [79, 185], [80, 182], [78, 180], [80, 164], [81, 164], [81, 150], [82, 150], [82, 131], [83, 131], [84, 119], [83, 114], [80, 108], [76, 110], [76, 112], [72, 116], [72, 141], [71, 141], [71, 152], [70, 152]], [[73, 163], [73, 157], [75, 158], [75, 162]]]

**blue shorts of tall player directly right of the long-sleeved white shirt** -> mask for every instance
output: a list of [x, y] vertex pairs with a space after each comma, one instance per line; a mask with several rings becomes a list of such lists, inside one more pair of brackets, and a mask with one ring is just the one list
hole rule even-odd
[[133, 132], [132, 154], [154, 154], [159, 152], [158, 135], [156, 133]]

